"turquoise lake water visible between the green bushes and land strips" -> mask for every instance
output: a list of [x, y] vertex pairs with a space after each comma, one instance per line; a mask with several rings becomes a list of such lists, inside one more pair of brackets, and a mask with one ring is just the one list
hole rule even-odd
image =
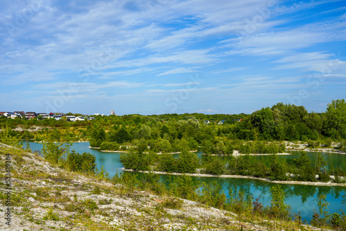
[[[30, 149], [32, 151], [41, 150], [42, 144], [36, 142], [28, 142]], [[24, 144], [25, 147], [25, 144]], [[109, 176], [113, 176], [116, 172], [122, 172], [122, 164], [120, 163], [120, 154], [111, 153], [111, 152], [102, 152], [98, 149], [90, 149], [89, 142], [76, 142], [73, 143], [71, 149], [75, 149], [76, 152], [82, 154], [83, 152], [90, 152], [96, 157], [96, 164], [98, 169], [103, 165], [104, 169], [107, 170]], [[291, 158], [297, 158], [299, 152], [291, 152], [292, 156], [280, 156], [280, 158], [286, 158], [288, 161]], [[316, 153], [308, 152], [311, 160], [314, 160]], [[326, 160], [328, 161], [329, 166], [342, 167], [346, 169], [346, 155], [343, 154], [325, 154]], [[270, 156], [263, 156], [266, 161]], [[257, 156], [259, 160], [262, 156]], [[167, 177], [161, 176], [163, 181], [174, 179], [174, 176]], [[221, 185], [222, 190], [228, 195], [228, 189], [231, 188], [233, 192], [243, 191], [245, 194], [253, 196], [253, 198], [260, 198], [260, 203], [263, 203], [264, 206], [271, 204], [271, 196], [269, 189], [275, 184], [258, 181], [252, 179], [243, 179], [243, 178], [217, 178], [217, 177], [196, 177], [197, 181], [206, 182], [207, 184], [212, 183], [212, 181], [217, 181]], [[327, 202], [329, 203], [330, 214], [337, 212], [340, 214], [340, 211], [346, 212], [346, 206], [343, 205], [342, 195], [346, 194], [345, 187], [328, 187], [328, 186], [313, 186], [313, 185], [281, 185], [282, 189], [285, 192], [286, 199], [285, 203], [291, 205], [291, 212], [301, 213], [302, 219], [310, 221], [312, 218], [313, 212], [318, 212], [318, 201], [316, 198], [320, 194], [325, 194], [327, 196]], [[254, 200], [253, 199], [253, 200]]]

